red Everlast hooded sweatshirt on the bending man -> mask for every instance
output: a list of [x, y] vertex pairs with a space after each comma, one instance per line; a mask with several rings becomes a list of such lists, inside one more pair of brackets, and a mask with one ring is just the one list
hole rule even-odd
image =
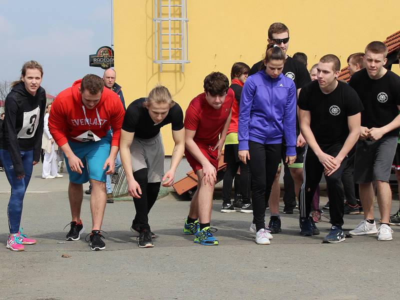
[[[48, 128], [55, 142], [62, 146], [70, 141], [92, 141], [113, 130], [111, 146], [119, 146], [119, 135], [125, 111], [119, 96], [104, 88], [100, 101], [91, 109], [84, 106], [79, 92], [82, 79], [61, 91], [51, 105]], [[94, 137], [93, 137], [94, 136]]]

